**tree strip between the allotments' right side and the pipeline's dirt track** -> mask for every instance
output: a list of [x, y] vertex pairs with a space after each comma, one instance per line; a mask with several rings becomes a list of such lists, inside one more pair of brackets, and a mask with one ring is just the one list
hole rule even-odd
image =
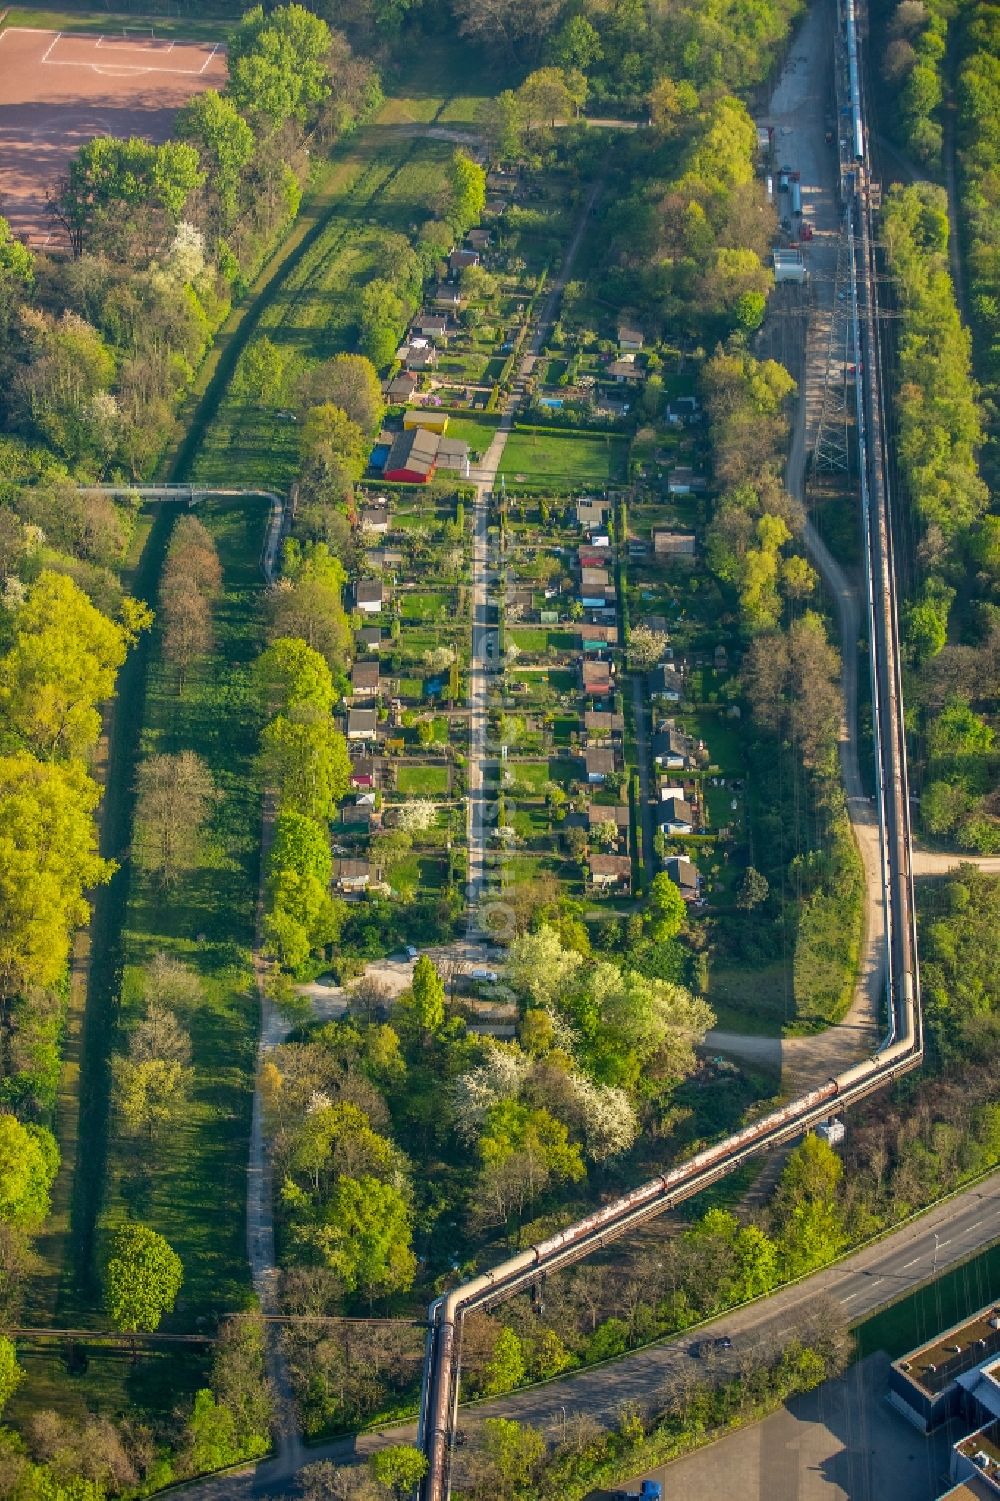
[[755, 874], [764, 881], [763, 899], [742, 902], [746, 916], [718, 935], [743, 962], [793, 943], [796, 1015], [829, 1025], [854, 985], [863, 883], [836, 757], [839, 656], [823, 617], [803, 608], [817, 575], [794, 549], [803, 513], [782, 483], [794, 383], [734, 336], [704, 362], [701, 384], [721, 486], [707, 558], [751, 638], [742, 687], [752, 710]]

